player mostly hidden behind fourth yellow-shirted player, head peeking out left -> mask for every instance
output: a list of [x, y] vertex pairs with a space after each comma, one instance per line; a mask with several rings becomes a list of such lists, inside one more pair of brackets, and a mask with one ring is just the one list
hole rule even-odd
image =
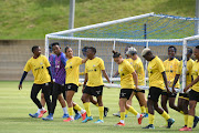
[[[82, 49], [82, 54], [83, 54], [84, 57], [86, 57], [87, 48], [88, 48], [88, 47], [84, 47], [84, 48]], [[80, 74], [81, 74], [81, 75], [85, 75], [85, 72], [81, 72]], [[90, 96], [90, 102], [92, 102], [95, 106], [98, 106], [97, 101], [94, 100], [92, 95]], [[104, 106], [104, 116], [107, 116], [108, 110], [109, 110], [108, 108]]]

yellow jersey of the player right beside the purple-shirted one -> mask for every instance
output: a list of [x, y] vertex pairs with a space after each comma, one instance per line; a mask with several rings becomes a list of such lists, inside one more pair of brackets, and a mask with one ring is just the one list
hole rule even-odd
[[65, 84], [74, 83], [78, 86], [78, 71], [80, 65], [82, 64], [82, 59], [78, 57], [73, 57], [66, 61], [65, 65]]

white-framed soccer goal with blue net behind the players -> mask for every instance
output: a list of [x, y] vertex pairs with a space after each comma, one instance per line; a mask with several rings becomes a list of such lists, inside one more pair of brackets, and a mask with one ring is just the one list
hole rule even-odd
[[[71, 47], [74, 55], [81, 58], [83, 58], [82, 48], [95, 47], [96, 55], [104, 60], [112, 81], [119, 81], [119, 78], [113, 78], [117, 64], [113, 61], [112, 50], [121, 52], [125, 58], [125, 49], [128, 47], [135, 47], [139, 57], [144, 48], [150, 48], [153, 53], [164, 61], [167, 59], [167, 48], [175, 45], [177, 58], [184, 61], [182, 88], [185, 88], [187, 48], [199, 44], [199, 37], [195, 35], [197, 21], [199, 21], [197, 18], [146, 13], [49, 33], [45, 35], [45, 55], [49, 55], [49, 45], [53, 42], [60, 42], [62, 50], [66, 45]], [[147, 62], [143, 58], [142, 60], [146, 66]], [[84, 65], [81, 65], [80, 71], [84, 71]]]

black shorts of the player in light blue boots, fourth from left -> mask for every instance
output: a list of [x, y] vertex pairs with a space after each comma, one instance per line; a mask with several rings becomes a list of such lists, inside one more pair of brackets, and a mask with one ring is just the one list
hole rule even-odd
[[83, 93], [94, 95], [94, 96], [100, 96], [103, 95], [103, 85], [100, 86], [85, 86]]

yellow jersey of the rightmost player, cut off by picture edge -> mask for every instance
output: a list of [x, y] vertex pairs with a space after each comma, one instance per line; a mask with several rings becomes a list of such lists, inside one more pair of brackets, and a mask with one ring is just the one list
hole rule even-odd
[[[192, 75], [193, 80], [196, 80], [199, 76], [199, 62], [198, 61], [195, 61], [195, 63], [193, 63], [191, 75]], [[191, 89], [199, 92], [199, 82], [197, 82], [195, 85], [192, 85]]]

